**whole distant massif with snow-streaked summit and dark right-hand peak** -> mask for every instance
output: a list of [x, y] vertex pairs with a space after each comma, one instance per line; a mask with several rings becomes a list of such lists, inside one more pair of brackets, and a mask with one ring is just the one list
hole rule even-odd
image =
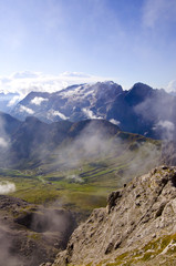
[[130, 91], [112, 82], [72, 85], [55, 93], [31, 92], [12, 110], [51, 123], [104, 119], [123, 131], [173, 140], [176, 133], [176, 98], [164, 90], [136, 83]]

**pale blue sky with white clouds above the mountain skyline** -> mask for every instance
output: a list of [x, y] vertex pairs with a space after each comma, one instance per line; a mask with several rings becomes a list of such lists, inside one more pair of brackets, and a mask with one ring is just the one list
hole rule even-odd
[[176, 90], [175, 0], [0, 0], [0, 91]]

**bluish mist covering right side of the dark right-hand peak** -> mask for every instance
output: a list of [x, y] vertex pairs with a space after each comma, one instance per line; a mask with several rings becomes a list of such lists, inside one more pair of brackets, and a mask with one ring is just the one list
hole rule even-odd
[[[145, 121], [149, 135], [154, 139], [174, 141], [176, 134], [176, 98], [164, 90], [154, 90], [153, 94], [134, 106], [135, 113]], [[148, 132], [146, 132], [148, 134]]]

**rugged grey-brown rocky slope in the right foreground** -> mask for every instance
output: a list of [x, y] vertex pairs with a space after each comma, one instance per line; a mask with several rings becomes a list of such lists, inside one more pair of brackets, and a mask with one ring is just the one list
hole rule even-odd
[[52, 266], [176, 265], [175, 243], [176, 167], [161, 166], [113, 192]]

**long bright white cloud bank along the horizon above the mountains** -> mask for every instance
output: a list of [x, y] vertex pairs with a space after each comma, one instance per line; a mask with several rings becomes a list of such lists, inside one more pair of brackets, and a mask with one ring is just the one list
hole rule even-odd
[[0, 76], [0, 91], [19, 93], [25, 96], [31, 91], [56, 92], [73, 84], [94, 83], [97, 81], [112, 80], [89, 75], [79, 72], [64, 72], [59, 75], [43, 74], [41, 72], [21, 71], [9, 76]]

